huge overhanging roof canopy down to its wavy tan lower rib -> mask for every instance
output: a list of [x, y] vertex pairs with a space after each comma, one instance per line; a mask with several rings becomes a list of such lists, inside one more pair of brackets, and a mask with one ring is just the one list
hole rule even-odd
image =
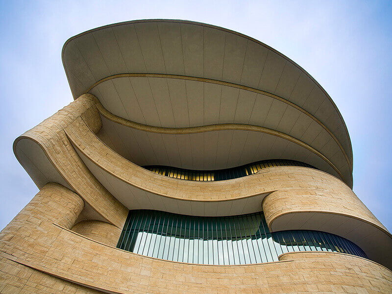
[[[329, 161], [324, 171], [352, 187], [351, 143], [336, 105], [309, 73], [257, 40], [189, 21], [132, 21], [69, 39], [63, 63], [74, 98], [94, 94], [118, 117], [166, 128], [276, 130], [317, 150]], [[111, 141], [120, 142], [116, 133]]]

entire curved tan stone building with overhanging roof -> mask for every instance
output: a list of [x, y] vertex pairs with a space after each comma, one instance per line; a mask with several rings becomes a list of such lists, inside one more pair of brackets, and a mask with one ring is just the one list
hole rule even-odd
[[343, 118], [292, 60], [178, 20], [62, 57], [74, 101], [14, 143], [40, 192], [1, 231], [1, 293], [392, 292]]

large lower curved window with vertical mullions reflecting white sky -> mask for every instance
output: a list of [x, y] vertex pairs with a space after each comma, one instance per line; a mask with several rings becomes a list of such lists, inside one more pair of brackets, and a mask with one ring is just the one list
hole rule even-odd
[[278, 261], [282, 253], [330, 251], [365, 257], [354, 243], [324, 232], [270, 233], [264, 214], [193, 217], [153, 210], [129, 212], [117, 247], [150, 257], [209, 265]]

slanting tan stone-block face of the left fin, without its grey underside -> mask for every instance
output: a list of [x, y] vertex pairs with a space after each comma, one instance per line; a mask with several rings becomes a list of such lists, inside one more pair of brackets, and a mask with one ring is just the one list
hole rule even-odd
[[98, 131], [101, 127], [95, 99], [91, 95], [83, 95], [71, 102], [19, 138], [37, 142], [73, 191], [105, 220], [122, 228], [128, 210], [87, 169], [64, 132], [64, 128], [75, 119], [88, 123], [89, 132]]

